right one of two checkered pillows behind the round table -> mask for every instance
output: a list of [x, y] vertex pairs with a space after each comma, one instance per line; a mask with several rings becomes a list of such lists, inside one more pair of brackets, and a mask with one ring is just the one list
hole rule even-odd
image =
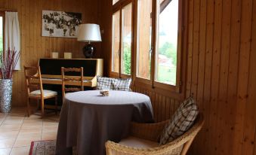
[[131, 78], [116, 78], [114, 90], [130, 91]]

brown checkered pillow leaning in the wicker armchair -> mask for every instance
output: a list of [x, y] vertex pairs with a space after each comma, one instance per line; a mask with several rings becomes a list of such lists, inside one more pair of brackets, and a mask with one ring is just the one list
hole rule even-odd
[[187, 132], [196, 120], [197, 114], [199, 114], [197, 105], [193, 98], [189, 97], [180, 104], [171, 121], [165, 126], [159, 144], [166, 144]]

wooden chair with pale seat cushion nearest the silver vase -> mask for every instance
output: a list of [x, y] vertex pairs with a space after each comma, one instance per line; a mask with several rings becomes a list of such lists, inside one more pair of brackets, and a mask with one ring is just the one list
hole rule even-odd
[[[41, 101], [41, 112], [42, 112], [42, 117], [44, 117], [45, 116], [45, 99], [55, 98], [55, 112], [57, 114], [57, 92], [54, 92], [52, 90], [43, 90], [40, 67], [24, 66], [24, 73], [25, 73], [26, 87], [27, 87], [28, 116], [30, 116], [30, 103], [29, 103], [30, 99], [36, 99], [38, 102], [38, 106], [39, 106], [39, 100]], [[31, 74], [31, 73], [34, 73], [34, 74]], [[32, 83], [31, 82], [32, 79], [38, 82]]]

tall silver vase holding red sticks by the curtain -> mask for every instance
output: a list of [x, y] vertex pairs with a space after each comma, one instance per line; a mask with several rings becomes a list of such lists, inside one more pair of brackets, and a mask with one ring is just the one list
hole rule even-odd
[[0, 55], [0, 112], [3, 113], [11, 111], [12, 75], [19, 58], [20, 52], [10, 49]]

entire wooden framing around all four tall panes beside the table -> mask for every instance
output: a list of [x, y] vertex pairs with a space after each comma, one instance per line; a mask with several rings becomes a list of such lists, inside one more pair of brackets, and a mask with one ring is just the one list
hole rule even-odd
[[[111, 69], [109, 75], [114, 78], [132, 78], [133, 84], [135, 86], [141, 86], [153, 89], [153, 90], [165, 90], [172, 94], [180, 94], [181, 89], [184, 89], [185, 78], [183, 74], [186, 74], [186, 61], [184, 61], [186, 56], [186, 45], [184, 45], [184, 41], [187, 38], [187, 30], [185, 29], [185, 24], [187, 23], [187, 5], [185, 6], [184, 0], [178, 0], [178, 26], [177, 26], [177, 71], [176, 71], [176, 85], [165, 84], [156, 81], [156, 50], [157, 49], [157, 2], [153, 0], [152, 2], [152, 38], [151, 38], [151, 71], [150, 71], [150, 80], [145, 78], [137, 77], [137, 15], [138, 15], [138, 0], [119, 0], [113, 5], [113, 14], [116, 11], [120, 11], [120, 55], [119, 55], [119, 73], [112, 71], [112, 59]], [[122, 8], [126, 5], [132, 3], [132, 13], [131, 13], [131, 75], [121, 74], [121, 48], [122, 48]], [[112, 18], [111, 23], [113, 24]], [[113, 25], [111, 25], [111, 29]], [[113, 44], [113, 33], [111, 33], [111, 41], [110, 44]], [[186, 36], [185, 36], [186, 35]], [[112, 51], [111, 51], [112, 58]], [[184, 91], [184, 90], [182, 90]]]

